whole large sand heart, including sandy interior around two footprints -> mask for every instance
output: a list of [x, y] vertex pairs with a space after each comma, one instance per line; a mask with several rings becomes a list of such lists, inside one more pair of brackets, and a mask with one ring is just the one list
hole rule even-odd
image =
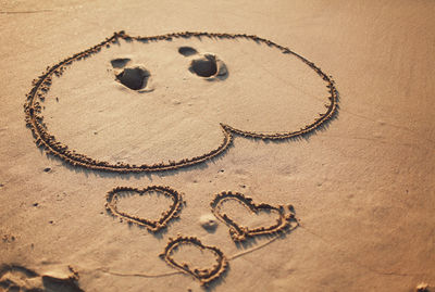
[[[184, 56], [179, 56], [174, 46], [189, 45], [187, 40], [198, 40], [199, 47], [206, 46], [206, 40], [213, 41], [208, 43], [215, 49], [227, 43], [221, 51], [225, 56], [221, 61], [225, 61], [227, 69], [220, 72], [223, 66], [219, 65], [220, 58], [214, 53], [200, 53], [194, 48], [186, 51], [182, 47], [179, 54]], [[121, 47], [139, 43], [148, 46], [146, 50], [135, 51], [135, 54], [147, 52], [142, 56], [147, 68], [141, 63], [127, 64], [122, 72], [116, 71], [105, 78], [108, 68], [99, 67], [103, 63], [109, 66], [109, 60], [102, 62], [103, 56], [112, 58], [112, 52]], [[250, 51], [233, 48], [241, 43], [250, 43]], [[176, 56], [162, 59], [166, 60], [164, 64], [156, 63], [147, 56], [152, 48], [157, 55], [166, 56], [171, 51], [176, 52]], [[268, 61], [264, 52], [271, 55]], [[191, 61], [187, 62], [189, 58]], [[128, 60], [112, 59], [110, 67], [121, 71]], [[190, 63], [195, 74], [188, 73], [187, 66], [184, 69], [185, 62]], [[285, 63], [286, 66], [283, 62], [289, 63]], [[100, 69], [89, 67], [90, 64]], [[62, 77], [65, 69], [69, 73]], [[232, 77], [225, 81], [204, 81], [209, 73], [216, 77], [214, 79], [219, 79], [221, 73]], [[148, 79], [162, 75], [167, 78], [160, 80], [161, 86], [156, 90], [145, 90], [146, 94], [136, 92], [147, 88]], [[261, 81], [244, 85], [238, 78]], [[173, 86], [166, 90], [167, 80]], [[113, 84], [116, 87], [112, 88]], [[186, 88], [191, 90], [186, 91]], [[226, 91], [221, 91], [224, 88]], [[183, 90], [174, 91], [178, 89]], [[298, 110], [293, 112], [294, 109]], [[47, 67], [34, 80], [24, 104], [26, 124], [36, 143], [49, 154], [73, 166], [121, 174], [163, 172], [203, 163], [225, 152], [234, 136], [262, 140], [307, 136], [321, 129], [337, 110], [338, 91], [332, 77], [290, 49], [254, 35], [189, 31], [150, 37], [115, 33]], [[113, 120], [112, 112], [116, 113], [117, 120]], [[89, 135], [89, 130], [94, 135]], [[200, 143], [197, 143], [198, 137], [202, 139]], [[194, 144], [198, 149], [192, 149]], [[126, 151], [126, 145], [134, 148]]]

